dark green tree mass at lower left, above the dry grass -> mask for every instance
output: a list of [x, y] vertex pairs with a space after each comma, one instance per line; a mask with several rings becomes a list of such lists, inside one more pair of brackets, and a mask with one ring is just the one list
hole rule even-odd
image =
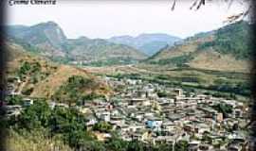
[[45, 101], [34, 102], [22, 111], [16, 122], [10, 121], [9, 124], [25, 134], [35, 129], [46, 129], [46, 136], [61, 135], [61, 141], [71, 147], [80, 147], [82, 143], [95, 140], [86, 131], [85, 118], [76, 109], [50, 109]]

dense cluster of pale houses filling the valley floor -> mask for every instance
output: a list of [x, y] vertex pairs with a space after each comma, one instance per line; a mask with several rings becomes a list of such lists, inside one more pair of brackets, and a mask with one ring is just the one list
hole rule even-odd
[[[204, 94], [184, 95], [182, 89], [140, 79], [106, 77], [106, 82], [119, 88], [113, 97], [84, 100], [76, 106], [85, 115], [88, 129], [106, 122], [125, 141], [170, 143], [173, 150], [179, 141], [188, 142], [189, 151], [241, 151], [248, 146], [248, 107], [243, 102]], [[159, 96], [162, 91], [169, 95]], [[32, 103], [25, 99], [26, 106]], [[216, 109], [218, 105], [229, 106], [231, 111]], [[49, 106], [69, 108], [55, 102]], [[8, 110], [9, 115], [16, 115], [21, 107], [9, 106]], [[101, 140], [109, 137], [110, 133], [104, 133]]]

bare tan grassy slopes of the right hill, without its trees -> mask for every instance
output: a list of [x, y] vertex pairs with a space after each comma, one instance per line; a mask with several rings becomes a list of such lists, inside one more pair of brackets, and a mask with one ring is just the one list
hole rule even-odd
[[[162, 51], [153, 61], [161, 61], [161, 59], [174, 59], [184, 55], [191, 55], [192, 59], [186, 62], [192, 68], [208, 69], [216, 71], [236, 71], [249, 72], [249, 62], [247, 60], [235, 59], [232, 55], [220, 54], [211, 48], [207, 51], [197, 51], [198, 42], [190, 42], [174, 48], [169, 48]], [[211, 49], [211, 50], [210, 50]], [[166, 64], [168, 65], [168, 64]], [[170, 64], [171, 65], [171, 64]]]

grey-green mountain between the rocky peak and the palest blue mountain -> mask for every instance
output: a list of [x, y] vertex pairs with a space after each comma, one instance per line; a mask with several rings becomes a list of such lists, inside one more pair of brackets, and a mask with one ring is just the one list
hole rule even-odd
[[65, 46], [69, 50], [68, 57], [75, 60], [88, 62], [105, 61], [105, 63], [116, 61], [118, 63], [119, 60], [146, 59], [144, 54], [131, 46], [107, 42], [102, 39], [91, 40], [82, 37], [76, 40], [68, 40]]

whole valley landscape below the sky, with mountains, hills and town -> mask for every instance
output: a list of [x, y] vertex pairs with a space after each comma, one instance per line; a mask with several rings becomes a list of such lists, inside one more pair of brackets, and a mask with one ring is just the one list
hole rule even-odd
[[39, 136], [64, 150], [245, 148], [248, 26], [242, 21], [184, 40], [68, 39], [54, 22], [9, 26], [9, 144], [25, 151], [13, 140], [29, 136], [29, 151]]

